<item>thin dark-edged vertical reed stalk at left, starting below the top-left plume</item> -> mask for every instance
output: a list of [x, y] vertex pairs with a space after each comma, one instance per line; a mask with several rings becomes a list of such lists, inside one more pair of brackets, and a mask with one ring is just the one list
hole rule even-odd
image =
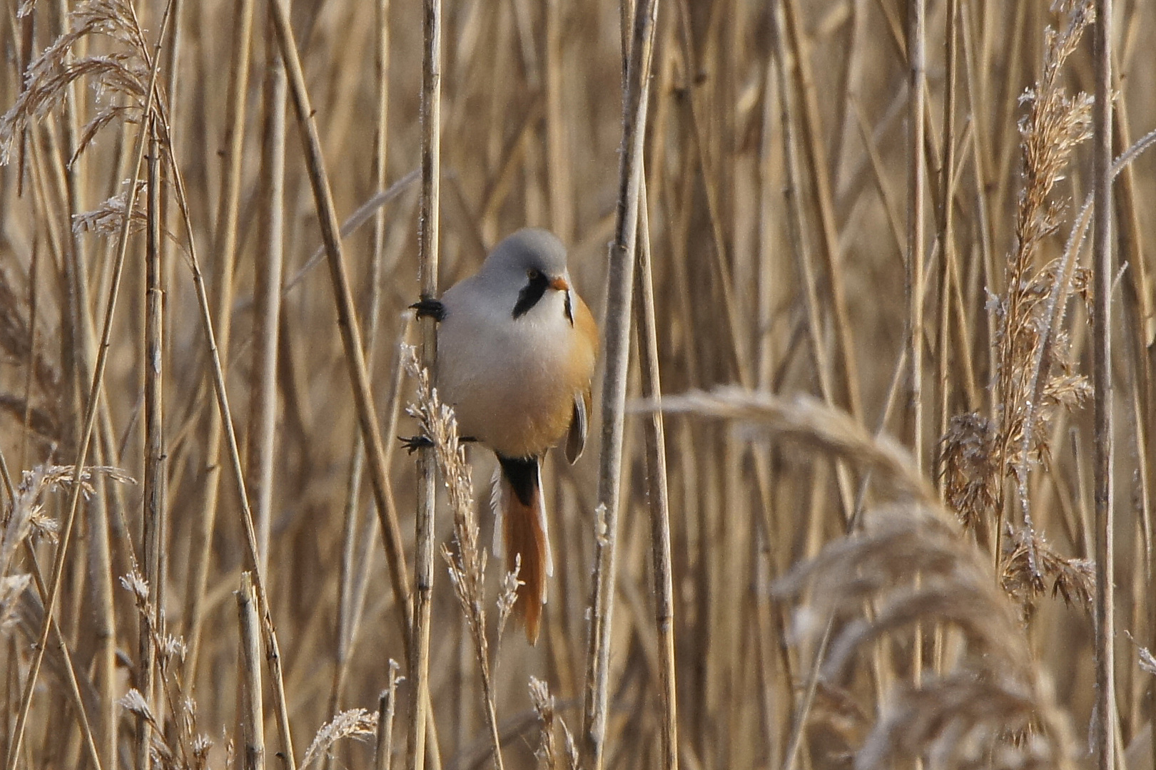
[[[153, 637], [164, 637], [165, 569], [165, 456], [164, 456], [164, 399], [162, 393], [162, 361], [164, 357], [164, 293], [161, 289], [161, 142], [156, 121], [146, 122], [149, 132], [148, 151], [148, 224], [146, 237], [146, 315], [144, 315], [144, 495], [143, 559], [141, 562], [149, 582], [151, 613], [140, 613], [139, 658], [136, 687], [144, 696], [149, 710], [163, 722], [161, 702], [156, 697], [157, 660]], [[154, 620], [157, 628], [151, 628]], [[147, 719], [136, 717], [136, 767], [148, 770], [151, 727]]]

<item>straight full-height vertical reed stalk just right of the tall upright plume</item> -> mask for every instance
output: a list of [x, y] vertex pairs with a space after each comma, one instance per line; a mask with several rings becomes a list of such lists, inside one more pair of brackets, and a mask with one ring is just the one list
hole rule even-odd
[[1112, 528], [1112, 0], [1096, 0], [1092, 31], [1092, 388], [1096, 511], [1096, 767], [1114, 767], [1116, 681], [1112, 644], [1114, 547]]

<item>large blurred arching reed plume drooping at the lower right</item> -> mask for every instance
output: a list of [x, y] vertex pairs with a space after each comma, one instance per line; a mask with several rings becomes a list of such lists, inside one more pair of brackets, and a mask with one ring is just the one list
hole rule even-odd
[[[829, 544], [775, 589], [784, 597], [810, 589], [796, 634], [817, 640], [827, 634], [822, 619], [846, 621], [822, 670], [836, 683], [854, 655], [881, 636], [919, 623], [942, 623], [959, 634], [958, 651], [941, 673], [899, 686], [857, 753], [857, 770], [887, 767], [896, 757], [928, 757], [942, 768], [966, 767], [980, 756], [996, 768], [1070, 765], [1072, 737], [1037, 670], [1016, 607], [905, 450], [809, 398], [787, 402], [719, 389], [665, 398], [661, 409], [768, 427], [870, 470], [901, 501], [865, 511], [858, 534]], [[868, 603], [876, 611], [852, 619]], [[1029, 732], [1035, 740], [1018, 740]]]

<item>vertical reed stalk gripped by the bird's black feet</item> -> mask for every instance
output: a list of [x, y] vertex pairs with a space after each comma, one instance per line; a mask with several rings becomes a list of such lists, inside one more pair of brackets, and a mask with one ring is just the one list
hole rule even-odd
[[[422, 186], [417, 226], [417, 279], [421, 298], [437, 297], [442, 173], [442, 0], [422, 3]], [[423, 319], [421, 362], [437, 381], [437, 321]], [[417, 510], [414, 521], [414, 622], [409, 643], [409, 770], [425, 767], [429, 713], [430, 610], [433, 593], [433, 518], [437, 509], [437, 459], [432, 447], [417, 453]]]

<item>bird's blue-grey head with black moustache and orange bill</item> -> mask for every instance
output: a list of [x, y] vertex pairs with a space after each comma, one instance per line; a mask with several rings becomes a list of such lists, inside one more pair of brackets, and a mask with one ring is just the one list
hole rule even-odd
[[480, 276], [506, 291], [517, 291], [512, 315], [518, 319], [535, 307], [547, 292], [565, 294], [570, 315], [570, 274], [566, 247], [546, 230], [527, 227], [499, 242], [486, 257]]

